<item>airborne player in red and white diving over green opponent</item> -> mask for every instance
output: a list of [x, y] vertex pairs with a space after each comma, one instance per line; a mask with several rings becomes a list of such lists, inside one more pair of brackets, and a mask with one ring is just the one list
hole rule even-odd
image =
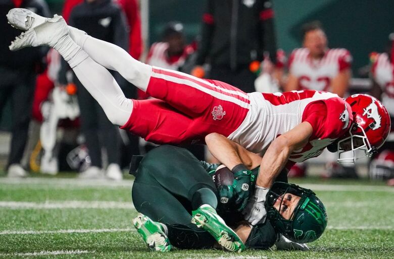
[[[327, 146], [331, 151], [341, 150], [338, 161], [354, 163], [356, 150], [372, 155], [390, 130], [387, 110], [368, 95], [353, 95], [345, 101], [313, 90], [246, 94], [220, 81], [141, 63], [123, 49], [67, 26], [61, 16], [48, 19], [29, 10], [12, 9], [8, 20], [27, 30], [11, 43], [11, 50], [54, 47], [109, 119], [121, 128], [161, 144], [204, 143], [208, 134], [218, 133], [251, 152], [264, 153], [264, 174], [257, 178], [255, 199], [244, 212], [254, 224], [264, 222], [261, 204], [283, 168], [316, 157]], [[106, 68], [118, 71], [159, 100], [125, 98]], [[348, 151], [352, 158], [344, 159], [343, 153]], [[229, 168], [241, 175], [244, 167]], [[250, 180], [239, 176], [233, 185], [242, 210], [250, 195]], [[262, 213], [255, 212], [257, 207]]]

